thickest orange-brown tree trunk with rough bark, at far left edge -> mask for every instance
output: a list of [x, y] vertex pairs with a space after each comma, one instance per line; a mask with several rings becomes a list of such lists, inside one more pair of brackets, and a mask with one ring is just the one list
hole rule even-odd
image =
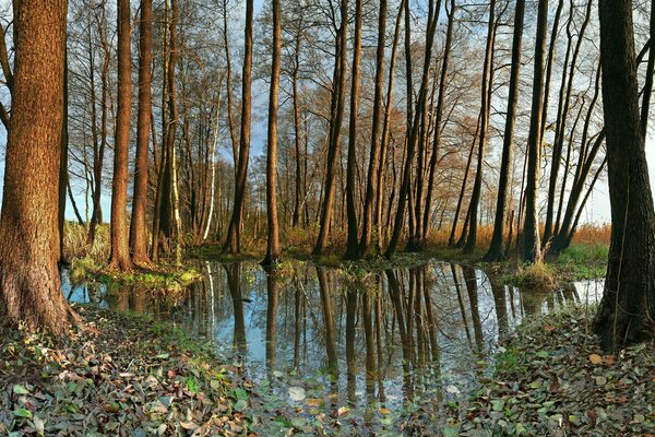
[[11, 129], [0, 214], [0, 320], [63, 334], [58, 185], [67, 1], [22, 0], [16, 12]]

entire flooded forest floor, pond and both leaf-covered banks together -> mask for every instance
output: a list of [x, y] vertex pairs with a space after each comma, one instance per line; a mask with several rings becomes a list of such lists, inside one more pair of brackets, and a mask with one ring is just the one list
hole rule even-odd
[[606, 251], [573, 249], [536, 270], [201, 257], [175, 292], [64, 274], [85, 324], [1, 332], [0, 434], [654, 435], [655, 345], [603, 355]]

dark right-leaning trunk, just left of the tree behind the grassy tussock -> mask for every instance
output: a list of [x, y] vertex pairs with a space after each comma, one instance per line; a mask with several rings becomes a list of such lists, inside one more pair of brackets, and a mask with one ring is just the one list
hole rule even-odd
[[516, 121], [516, 104], [519, 101], [519, 73], [521, 70], [521, 42], [523, 39], [523, 17], [525, 0], [516, 1], [514, 11], [514, 37], [512, 39], [512, 67], [510, 70], [510, 94], [508, 96], [508, 115], [500, 158], [500, 178], [498, 180], [498, 197], [496, 201], [496, 220], [493, 235], [486, 261], [500, 261], [502, 258], [502, 240], [505, 228], [508, 196], [510, 191], [510, 175], [512, 174], [512, 155], [514, 147], [514, 123]]

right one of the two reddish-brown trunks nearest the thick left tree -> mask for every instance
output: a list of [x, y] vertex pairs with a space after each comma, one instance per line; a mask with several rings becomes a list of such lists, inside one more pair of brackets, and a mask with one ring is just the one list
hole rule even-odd
[[139, 117], [136, 120], [136, 162], [134, 164], [134, 196], [130, 223], [130, 250], [132, 261], [148, 264], [145, 235], [145, 206], [147, 202], [148, 142], [152, 117], [153, 62], [153, 1], [141, 0], [139, 25]]

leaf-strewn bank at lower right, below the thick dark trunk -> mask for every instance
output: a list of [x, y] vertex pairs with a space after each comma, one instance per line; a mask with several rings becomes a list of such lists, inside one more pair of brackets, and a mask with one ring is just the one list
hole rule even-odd
[[532, 318], [502, 345], [492, 377], [468, 399], [426, 403], [414, 435], [655, 436], [655, 343], [604, 355], [595, 308]]

